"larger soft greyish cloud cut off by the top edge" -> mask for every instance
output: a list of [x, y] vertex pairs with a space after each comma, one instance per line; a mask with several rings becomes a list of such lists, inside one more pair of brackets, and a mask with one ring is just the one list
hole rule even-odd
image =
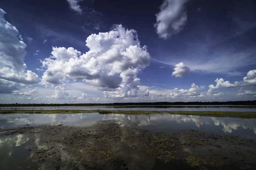
[[156, 14], [157, 23], [154, 27], [160, 38], [167, 39], [179, 33], [186, 25], [186, 3], [189, 0], [164, 0], [160, 12]]

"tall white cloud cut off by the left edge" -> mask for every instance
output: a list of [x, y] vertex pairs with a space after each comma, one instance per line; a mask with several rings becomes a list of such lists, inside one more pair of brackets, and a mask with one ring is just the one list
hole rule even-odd
[[[32, 71], [26, 71], [24, 57], [26, 44], [19, 38], [19, 31], [8, 23], [0, 9], [0, 86], [8, 92], [15, 89], [15, 82], [33, 84], [39, 79]], [[5, 87], [3, 87], [5, 86]]]

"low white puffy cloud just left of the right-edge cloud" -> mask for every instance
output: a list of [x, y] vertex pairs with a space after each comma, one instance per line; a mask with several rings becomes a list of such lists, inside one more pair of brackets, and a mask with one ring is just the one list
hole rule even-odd
[[230, 83], [229, 81], [225, 81], [224, 79], [215, 79], [216, 85], [209, 85], [209, 90], [208, 90], [208, 94], [212, 94], [214, 89], [217, 88], [235, 88], [238, 87], [239, 85], [241, 85], [241, 82], [234, 82], [233, 84]]

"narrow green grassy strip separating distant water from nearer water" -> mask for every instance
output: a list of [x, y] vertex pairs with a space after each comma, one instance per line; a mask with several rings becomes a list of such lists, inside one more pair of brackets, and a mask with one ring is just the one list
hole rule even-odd
[[180, 114], [194, 116], [231, 117], [241, 119], [256, 119], [256, 112], [233, 111], [108, 111], [108, 110], [0, 110], [0, 114], [72, 114], [72, 113], [99, 113], [99, 114]]

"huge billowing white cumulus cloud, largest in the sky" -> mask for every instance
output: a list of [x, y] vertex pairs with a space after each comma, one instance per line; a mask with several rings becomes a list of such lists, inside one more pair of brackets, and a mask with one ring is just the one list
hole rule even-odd
[[107, 98], [137, 96], [137, 74], [149, 65], [150, 56], [135, 30], [118, 25], [112, 31], [91, 34], [86, 46], [90, 50], [85, 54], [72, 47], [52, 48], [52, 56], [42, 61], [46, 71], [41, 84], [83, 80], [104, 91]]

